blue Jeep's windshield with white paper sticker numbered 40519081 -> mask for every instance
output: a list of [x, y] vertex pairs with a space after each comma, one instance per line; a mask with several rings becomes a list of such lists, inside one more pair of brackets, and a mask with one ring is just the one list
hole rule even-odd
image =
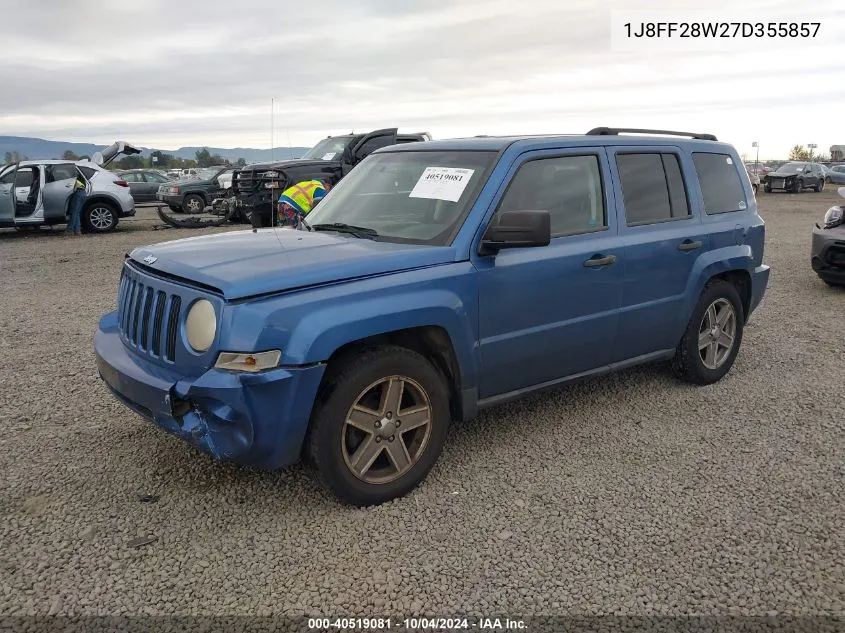
[[385, 241], [451, 242], [495, 164], [496, 152], [373, 154], [308, 214], [312, 227], [343, 223]]

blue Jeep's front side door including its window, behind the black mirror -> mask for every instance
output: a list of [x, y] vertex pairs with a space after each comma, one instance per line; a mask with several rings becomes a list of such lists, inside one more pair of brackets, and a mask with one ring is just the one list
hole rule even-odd
[[606, 365], [622, 295], [624, 253], [602, 148], [528, 152], [506, 182], [496, 213], [547, 209], [552, 239], [473, 257], [481, 399]]

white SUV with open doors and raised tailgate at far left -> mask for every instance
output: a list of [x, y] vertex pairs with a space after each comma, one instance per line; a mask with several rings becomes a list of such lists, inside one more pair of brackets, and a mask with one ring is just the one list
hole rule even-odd
[[113, 230], [119, 218], [135, 215], [135, 202], [129, 183], [102, 166], [140, 151], [117, 142], [90, 161], [27, 160], [0, 168], [0, 227], [65, 224], [73, 183], [81, 174], [88, 184], [82, 227], [93, 233]]

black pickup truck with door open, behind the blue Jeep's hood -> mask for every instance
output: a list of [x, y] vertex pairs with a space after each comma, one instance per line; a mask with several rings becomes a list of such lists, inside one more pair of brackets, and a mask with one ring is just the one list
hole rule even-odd
[[274, 200], [303, 180], [319, 179], [334, 186], [372, 152], [388, 145], [430, 141], [427, 133], [397, 134], [398, 128], [368, 134], [330, 136], [302, 158], [250, 165], [235, 172], [232, 191], [236, 206], [254, 227], [272, 224]]

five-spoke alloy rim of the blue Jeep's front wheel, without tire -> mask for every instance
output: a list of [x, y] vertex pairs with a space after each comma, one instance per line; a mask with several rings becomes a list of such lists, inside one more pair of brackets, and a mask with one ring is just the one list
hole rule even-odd
[[386, 376], [365, 388], [349, 408], [341, 434], [349, 471], [369, 484], [402, 477], [431, 437], [431, 401], [407, 376]]

